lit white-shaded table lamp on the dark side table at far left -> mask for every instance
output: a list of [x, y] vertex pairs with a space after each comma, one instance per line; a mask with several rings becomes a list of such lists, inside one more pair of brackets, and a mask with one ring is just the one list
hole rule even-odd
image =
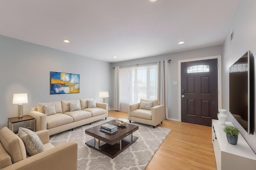
[[23, 117], [23, 104], [28, 103], [27, 93], [13, 94], [12, 104], [18, 104], [18, 118]]

